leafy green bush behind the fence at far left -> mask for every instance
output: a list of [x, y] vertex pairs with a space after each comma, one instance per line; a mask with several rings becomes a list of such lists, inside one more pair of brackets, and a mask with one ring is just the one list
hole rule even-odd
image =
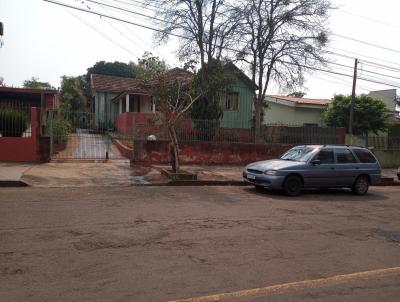
[[28, 113], [13, 108], [0, 108], [0, 133], [2, 136], [21, 137], [28, 129]]

